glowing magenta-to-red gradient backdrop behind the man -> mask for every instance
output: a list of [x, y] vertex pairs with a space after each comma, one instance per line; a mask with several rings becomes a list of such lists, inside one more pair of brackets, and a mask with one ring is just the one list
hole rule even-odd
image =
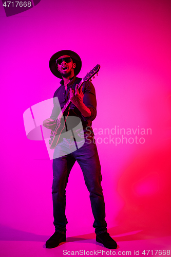
[[[152, 131], [142, 135], [143, 144], [97, 143], [109, 232], [169, 234], [170, 8], [169, 0], [41, 0], [6, 17], [1, 5], [1, 226], [53, 233], [52, 161], [43, 141], [27, 139], [23, 113], [53, 96], [60, 80], [49, 59], [71, 49], [82, 59], [80, 77], [101, 65], [92, 81], [98, 100], [93, 128]], [[78, 164], [69, 177], [66, 214], [67, 235], [94, 231]]]

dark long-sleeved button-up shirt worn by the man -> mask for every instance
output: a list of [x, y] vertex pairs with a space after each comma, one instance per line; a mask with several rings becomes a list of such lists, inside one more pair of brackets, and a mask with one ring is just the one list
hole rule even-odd
[[[64, 105], [66, 104], [67, 100], [69, 99], [69, 89], [71, 87], [73, 89], [75, 89], [75, 85], [79, 84], [79, 83], [77, 83], [78, 79], [79, 78], [77, 78], [75, 76], [71, 79], [71, 81], [67, 84], [67, 91], [65, 90], [64, 81], [61, 80], [61, 82], [60, 82], [61, 86], [55, 91], [54, 96], [53, 96], [54, 106], [53, 106], [52, 114], [50, 116], [51, 119], [55, 120], [61, 111], [60, 107], [58, 106], [58, 102], [56, 102], [55, 97], [58, 97], [60, 106], [61, 106], [61, 108], [63, 108]], [[76, 83], [74, 83], [74, 82], [76, 82]], [[96, 118], [97, 101], [96, 101], [96, 93], [95, 93], [93, 84], [90, 81], [86, 81], [83, 83], [82, 86], [83, 86], [82, 91], [84, 94], [83, 103], [90, 109], [91, 116], [84, 117], [81, 114], [81, 112], [79, 111], [79, 109], [77, 107], [75, 107], [75, 105], [73, 103], [71, 103], [71, 105], [70, 105], [69, 116], [78, 116], [82, 120], [84, 132], [86, 132], [87, 131], [86, 127], [91, 127], [92, 120], [94, 120]], [[89, 128], [89, 130], [91, 130], [91, 129]]]

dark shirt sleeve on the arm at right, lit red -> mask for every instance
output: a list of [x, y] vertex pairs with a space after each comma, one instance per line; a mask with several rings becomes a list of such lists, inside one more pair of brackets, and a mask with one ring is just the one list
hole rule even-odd
[[90, 109], [91, 116], [83, 117], [83, 120], [94, 120], [97, 115], [97, 100], [96, 100], [96, 91], [93, 84], [90, 81], [83, 83], [83, 103]]

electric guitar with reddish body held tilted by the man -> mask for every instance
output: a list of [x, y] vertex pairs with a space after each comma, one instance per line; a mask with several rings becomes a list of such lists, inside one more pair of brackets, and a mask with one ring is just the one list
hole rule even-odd
[[[90, 72], [87, 73], [87, 75], [80, 81], [78, 88], [81, 87], [81, 85], [85, 82], [85, 81], [91, 81], [91, 78], [93, 77], [93, 79], [95, 78], [95, 74], [97, 74], [98, 76], [98, 71], [100, 70], [100, 65], [97, 64], [93, 69], [90, 70]], [[69, 105], [71, 104], [71, 101], [68, 100], [66, 102], [66, 104], [64, 105], [64, 107], [62, 108], [59, 116], [55, 119], [55, 123], [56, 123], [56, 127], [54, 129], [54, 131], [51, 131], [51, 136], [50, 136], [50, 140], [49, 140], [49, 148], [50, 149], [54, 149], [55, 146], [58, 144], [59, 139], [60, 139], [60, 135], [65, 127], [65, 123], [66, 123], [66, 119], [68, 117], [69, 114]], [[68, 109], [67, 109], [68, 108]], [[64, 117], [63, 114], [67, 109], [67, 116]], [[64, 122], [63, 124], [61, 124], [61, 118], [64, 117]]]

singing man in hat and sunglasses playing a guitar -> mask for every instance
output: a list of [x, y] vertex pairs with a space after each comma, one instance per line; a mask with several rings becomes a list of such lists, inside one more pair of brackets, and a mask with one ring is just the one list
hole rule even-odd
[[[81, 135], [78, 131], [77, 139], [80, 138], [81, 141], [84, 137], [85, 143], [76, 151], [68, 153], [68, 149], [70, 150], [72, 146], [75, 147], [75, 141], [64, 137], [55, 147], [52, 185], [55, 232], [46, 242], [46, 247], [54, 248], [61, 242], [66, 241], [65, 189], [69, 173], [77, 160], [82, 169], [87, 189], [90, 192], [96, 241], [107, 248], [116, 249], [117, 243], [107, 233], [105, 204], [101, 187], [101, 167], [91, 128], [92, 120], [96, 118], [97, 114], [96, 94], [92, 83], [89, 81], [84, 82], [78, 89], [80, 79], [75, 76], [79, 74], [81, 65], [82, 62], [78, 54], [70, 50], [56, 52], [49, 62], [53, 75], [62, 79], [61, 86], [55, 91], [53, 99], [58, 97], [61, 108], [64, 107], [68, 98], [71, 100], [69, 116], [77, 116], [81, 119], [84, 133]], [[56, 127], [54, 120], [59, 114], [59, 108], [55, 100], [53, 102], [52, 115], [44, 121], [44, 126], [50, 130], [54, 130]], [[88, 133], [86, 127], [88, 127]], [[76, 140], [76, 142], [79, 142], [79, 140]]]

